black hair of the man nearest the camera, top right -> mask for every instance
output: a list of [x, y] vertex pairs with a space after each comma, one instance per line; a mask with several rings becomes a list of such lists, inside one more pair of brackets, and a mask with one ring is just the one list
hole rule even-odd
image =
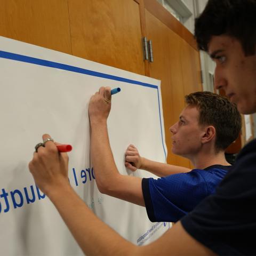
[[238, 39], [245, 55], [255, 54], [256, 0], [209, 0], [195, 19], [195, 38], [199, 50], [208, 51], [212, 36]]

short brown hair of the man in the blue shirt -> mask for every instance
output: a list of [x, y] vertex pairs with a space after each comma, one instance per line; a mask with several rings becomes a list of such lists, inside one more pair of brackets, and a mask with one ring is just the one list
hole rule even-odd
[[241, 115], [228, 98], [212, 92], [193, 92], [185, 96], [190, 106], [199, 112], [199, 125], [212, 125], [216, 131], [215, 149], [225, 150], [239, 135]]

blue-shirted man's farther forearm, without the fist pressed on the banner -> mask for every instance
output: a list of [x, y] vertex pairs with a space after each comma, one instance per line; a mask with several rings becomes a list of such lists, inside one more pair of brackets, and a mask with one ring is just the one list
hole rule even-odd
[[142, 164], [140, 169], [151, 172], [157, 175], [158, 177], [166, 177], [168, 175], [175, 174], [175, 173], [191, 171], [186, 167], [159, 163], [159, 162], [151, 161], [144, 157], [142, 157]]

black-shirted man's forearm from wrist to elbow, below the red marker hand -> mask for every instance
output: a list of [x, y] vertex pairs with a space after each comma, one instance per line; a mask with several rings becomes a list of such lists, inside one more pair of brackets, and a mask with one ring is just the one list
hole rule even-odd
[[132, 255], [135, 246], [99, 220], [70, 185], [49, 195], [86, 255]]

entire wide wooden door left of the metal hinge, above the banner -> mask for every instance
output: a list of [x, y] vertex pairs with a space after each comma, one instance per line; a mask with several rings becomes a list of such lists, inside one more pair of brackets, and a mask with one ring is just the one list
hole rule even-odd
[[0, 0], [0, 36], [145, 75], [138, 0]]

